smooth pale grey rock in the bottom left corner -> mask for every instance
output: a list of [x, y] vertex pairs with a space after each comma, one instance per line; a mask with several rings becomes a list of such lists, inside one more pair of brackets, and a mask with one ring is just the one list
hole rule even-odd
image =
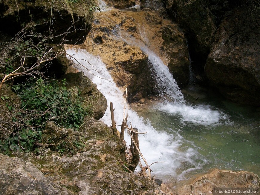
[[0, 154], [1, 194], [70, 195], [72, 192], [48, 180], [31, 162]]

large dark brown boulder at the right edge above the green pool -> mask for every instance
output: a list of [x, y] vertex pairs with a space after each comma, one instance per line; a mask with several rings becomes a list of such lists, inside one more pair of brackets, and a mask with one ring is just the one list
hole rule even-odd
[[221, 23], [205, 65], [210, 82], [228, 99], [260, 105], [260, 28], [234, 9]]

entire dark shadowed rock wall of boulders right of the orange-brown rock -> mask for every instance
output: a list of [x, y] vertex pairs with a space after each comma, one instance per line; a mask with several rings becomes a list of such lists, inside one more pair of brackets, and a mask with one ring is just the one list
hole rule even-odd
[[197, 80], [209, 79], [234, 102], [259, 105], [257, 2], [169, 0], [165, 7], [186, 32]]

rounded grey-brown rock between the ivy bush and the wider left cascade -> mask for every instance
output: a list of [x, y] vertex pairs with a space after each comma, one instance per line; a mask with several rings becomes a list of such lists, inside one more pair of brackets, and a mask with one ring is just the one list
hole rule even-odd
[[78, 87], [83, 98], [82, 106], [90, 109], [94, 119], [100, 119], [104, 116], [107, 109], [107, 100], [105, 96], [97, 89], [97, 85], [92, 83], [82, 72], [68, 73], [62, 76], [66, 79], [66, 87]]

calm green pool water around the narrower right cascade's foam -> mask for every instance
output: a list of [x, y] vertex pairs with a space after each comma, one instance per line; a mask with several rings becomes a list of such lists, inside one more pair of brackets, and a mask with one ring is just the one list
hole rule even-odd
[[[178, 132], [183, 136], [186, 141], [178, 150], [193, 148], [198, 152], [192, 160], [201, 163], [201, 166], [185, 172], [185, 179], [194, 174], [205, 173], [211, 168], [245, 170], [260, 176], [259, 108], [236, 105], [206, 88], [189, 86], [182, 92], [187, 104], [211, 105], [211, 109], [218, 110], [224, 118], [221, 117], [218, 123], [212, 125], [181, 122], [181, 116], [178, 114], [155, 110], [154, 105], [137, 110], [137, 113], [149, 119], [158, 131], [175, 136]], [[184, 163], [176, 172], [181, 174], [189, 168], [194, 166]]]

